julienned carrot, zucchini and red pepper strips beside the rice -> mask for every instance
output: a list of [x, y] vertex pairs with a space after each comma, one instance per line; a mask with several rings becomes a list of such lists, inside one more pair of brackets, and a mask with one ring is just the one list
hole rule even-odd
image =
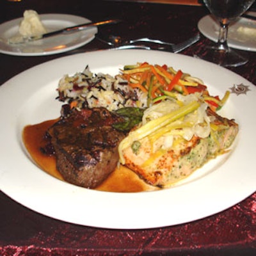
[[202, 80], [167, 65], [150, 65], [147, 62], [125, 65], [121, 77], [127, 80], [132, 88], [139, 88], [147, 93], [148, 107], [161, 100], [175, 98], [177, 93], [188, 95], [200, 92], [209, 108], [217, 111], [225, 104], [230, 94], [227, 91], [223, 99], [219, 96], [213, 97], [209, 95]]

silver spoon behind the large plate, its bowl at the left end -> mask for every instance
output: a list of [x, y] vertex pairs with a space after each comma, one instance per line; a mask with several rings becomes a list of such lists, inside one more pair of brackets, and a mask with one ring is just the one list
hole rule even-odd
[[163, 45], [173, 45], [172, 43], [169, 42], [163, 42], [161, 40], [157, 39], [150, 39], [147, 37], [143, 38], [138, 38], [138, 39], [132, 39], [132, 40], [125, 40], [121, 36], [115, 36], [115, 35], [109, 35], [109, 36], [104, 36], [104, 35], [97, 35], [97, 38], [111, 46], [118, 47], [120, 45], [129, 45], [129, 44], [134, 44], [136, 42], [148, 42], [148, 43], [154, 43], [154, 44], [163, 44]]

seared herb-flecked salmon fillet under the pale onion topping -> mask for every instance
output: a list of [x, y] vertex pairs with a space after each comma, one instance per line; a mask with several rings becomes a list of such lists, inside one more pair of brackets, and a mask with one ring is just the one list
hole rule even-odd
[[[171, 148], [159, 148], [152, 152], [148, 137], [140, 141], [140, 150], [134, 152], [132, 147], [123, 150], [125, 166], [137, 173], [150, 185], [161, 188], [188, 177], [209, 159], [220, 154], [232, 144], [238, 132], [234, 120], [228, 120], [207, 109], [211, 118], [211, 133], [207, 138], [193, 136], [185, 140], [177, 136]], [[164, 143], [164, 136], [157, 143]]]

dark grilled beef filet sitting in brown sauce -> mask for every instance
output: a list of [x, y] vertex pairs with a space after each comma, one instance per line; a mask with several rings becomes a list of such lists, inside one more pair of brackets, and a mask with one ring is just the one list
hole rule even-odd
[[77, 111], [64, 105], [61, 113], [48, 130], [57, 168], [67, 182], [95, 188], [118, 163], [118, 144], [125, 133], [112, 125], [122, 118], [105, 108]]

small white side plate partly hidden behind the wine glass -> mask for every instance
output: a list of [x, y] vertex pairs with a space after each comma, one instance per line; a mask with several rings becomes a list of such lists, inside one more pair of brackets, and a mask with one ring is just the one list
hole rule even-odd
[[[255, 12], [248, 12], [255, 15]], [[212, 15], [207, 15], [198, 22], [199, 31], [217, 42], [220, 25]], [[256, 20], [239, 18], [236, 22], [230, 24], [228, 28], [228, 45], [235, 49], [245, 51], [256, 51]]]

